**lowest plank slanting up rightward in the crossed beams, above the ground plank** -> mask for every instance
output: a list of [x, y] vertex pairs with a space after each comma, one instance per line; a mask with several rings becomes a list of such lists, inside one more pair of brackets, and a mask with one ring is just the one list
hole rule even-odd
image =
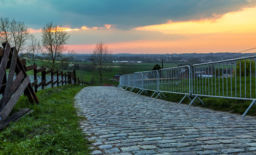
[[16, 92], [12, 95], [11, 99], [7, 102], [3, 111], [0, 112], [1, 120], [4, 120], [8, 117], [13, 107], [16, 105], [16, 102], [18, 101], [20, 95], [22, 95], [22, 93], [27, 88], [29, 83], [30, 83], [29, 76], [27, 76], [26, 79], [22, 82], [22, 84], [20, 84]]

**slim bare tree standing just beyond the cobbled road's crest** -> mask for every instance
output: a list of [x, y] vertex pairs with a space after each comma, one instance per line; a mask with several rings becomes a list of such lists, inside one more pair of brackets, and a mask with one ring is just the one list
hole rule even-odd
[[103, 71], [112, 65], [111, 62], [112, 51], [109, 50], [108, 45], [104, 42], [97, 42], [93, 50], [94, 65], [99, 74], [100, 84], [102, 84]]

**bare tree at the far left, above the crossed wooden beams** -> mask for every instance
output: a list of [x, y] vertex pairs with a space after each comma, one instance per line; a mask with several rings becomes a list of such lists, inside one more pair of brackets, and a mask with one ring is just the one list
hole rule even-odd
[[31, 34], [24, 22], [0, 18], [0, 41], [8, 41], [11, 46], [16, 47], [17, 51], [21, 51], [23, 56], [28, 54], [28, 51], [25, 51], [25, 49], [30, 37]]

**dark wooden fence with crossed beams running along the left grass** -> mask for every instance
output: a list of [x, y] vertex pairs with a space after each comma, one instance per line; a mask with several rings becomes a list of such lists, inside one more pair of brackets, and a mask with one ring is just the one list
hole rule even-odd
[[[8, 42], [2, 45], [4, 48], [0, 49], [0, 95], [2, 95], [0, 98], [0, 131], [4, 126], [29, 111], [29, 109], [25, 108], [9, 116], [22, 94], [28, 97], [31, 104], [39, 104], [39, 100], [35, 94], [39, 87], [45, 89], [48, 85], [54, 87], [56, 84], [57, 86], [67, 84], [89, 85], [88, 82], [80, 81], [76, 77], [75, 69], [70, 72], [62, 72], [59, 70], [53, 71], [53, 69], [47, 70], [46, 67], [37, 67], [36, 64], [26, 66], [26, 60], [19, 59], [16, 48], [11, 48]], [[9, 69], [8, 76], [7, 69]], [[27, 74], [27, 71], [30, 70], [34, 71], [33, 83], [30, 83], [30, 78]], [[40, 83], [37, 80], [37, 74], [39, 73], [41, 75]], [[47, 74], [51, 75], [51, 80], [48, 82], [46, 80]], [[54, 81], [53, 77], [55, 74], [57, 79]], [[60, 79], [59, 76], [61, 77]]]

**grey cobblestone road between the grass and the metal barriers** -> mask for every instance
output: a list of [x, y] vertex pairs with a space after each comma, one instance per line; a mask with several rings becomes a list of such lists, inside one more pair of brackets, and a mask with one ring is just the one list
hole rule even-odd
[[116, 87], [75, 97], [92, 154], [256, 154], [256, 119], [178, 106]]

